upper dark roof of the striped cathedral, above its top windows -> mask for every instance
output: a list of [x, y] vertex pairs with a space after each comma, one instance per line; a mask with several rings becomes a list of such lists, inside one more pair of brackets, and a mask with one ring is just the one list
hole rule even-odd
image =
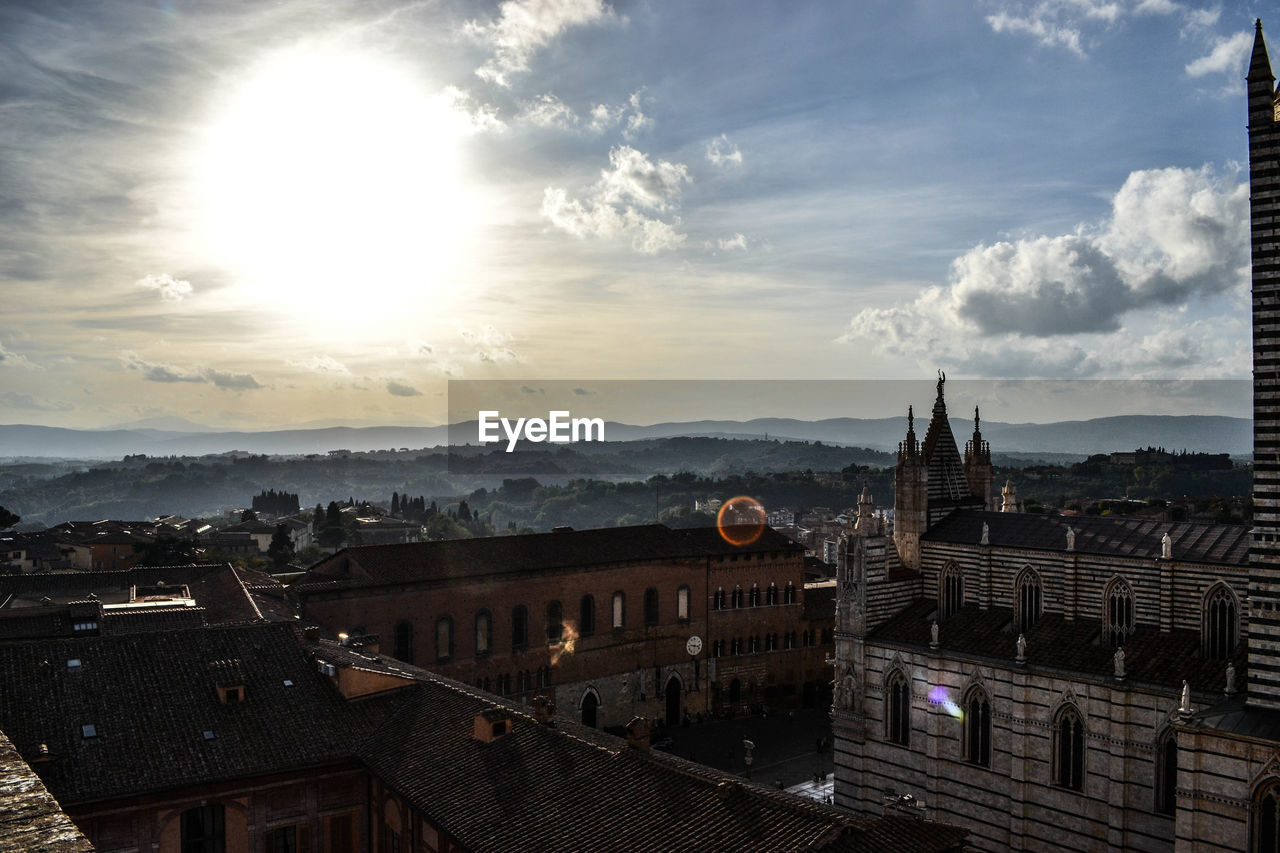
[[961, 511], [952, 512], [920, 538], [975, 546], [982, 540], [983, 524], [988, 529], [987, 540], [1000, 548], [1064, 552], [1070, 526], [1080, 553], [1155, 560], [1160, 557], [1161, 539], [1167, 533], [1172, 539], [1174, 560], [1231, 566], [1249, 562], [1249, 528], [1243, 524]]

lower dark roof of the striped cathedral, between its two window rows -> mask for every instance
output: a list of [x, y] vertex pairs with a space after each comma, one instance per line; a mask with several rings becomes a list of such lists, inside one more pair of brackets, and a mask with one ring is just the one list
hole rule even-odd
[[[929, 648], [929, 628], [937, 613], [937, 602], [920, 599], [872, 631], [876, 642]], [[1044, 613], [1027, 637], [1027, 666], [1111, 679], [1115, 674], [1112, 649], [1102, 637], [1097, 620], [1066, 621], [1059, 613]], [[1018, 634], [1014, 612], [1009, 608], [980, 610], [963, 607], [938, 625], [937, 654], [948, 652], [1000, 661], [1002, 666], [1019, 666]], [[1149, 684], [1180, 689], [1183, 679], [1202, 694], [1221, 695], [1226, 685], [1226, 661], [1201, 656], [1197, 631], [1162, 633], [1149, 625], [1138, 629], [1125, 642], [1125, 679], [1132, 684]], [[1235, 683], [1244, 685], [1245, 644], [1236, 646], [1231, 662]]]

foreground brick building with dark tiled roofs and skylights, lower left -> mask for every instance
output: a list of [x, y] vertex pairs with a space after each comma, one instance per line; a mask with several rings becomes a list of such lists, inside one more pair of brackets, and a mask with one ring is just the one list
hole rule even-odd
[[649, 752], [640, 722], [628, 744], [289, 624], [0, 644], [0, 680], [5, 850], [941, 853], [964, 838], [756, 788]]

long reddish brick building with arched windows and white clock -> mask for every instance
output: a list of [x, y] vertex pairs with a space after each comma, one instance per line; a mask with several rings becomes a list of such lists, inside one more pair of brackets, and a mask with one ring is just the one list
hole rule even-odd
[[588, 725], [799, 704], [831, 679], [833, 615], [806, 620], [804, 549], [771, 529], [744, 546], [644, 525], [347, 548], [291, 590], [330, 631]]

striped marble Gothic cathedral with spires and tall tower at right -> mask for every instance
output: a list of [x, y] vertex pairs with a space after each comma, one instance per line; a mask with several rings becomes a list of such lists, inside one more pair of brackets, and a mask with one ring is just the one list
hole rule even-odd
[[[1046, 516], [992, 494], [945, 377], [908, 412], [893, 530], [840, 546], [836, 803], [983, 850], [1280, 853], [1280, 99], [1248, 72], [1254, 516]], [[997, 505], [998, 502], [998, 505]]]

